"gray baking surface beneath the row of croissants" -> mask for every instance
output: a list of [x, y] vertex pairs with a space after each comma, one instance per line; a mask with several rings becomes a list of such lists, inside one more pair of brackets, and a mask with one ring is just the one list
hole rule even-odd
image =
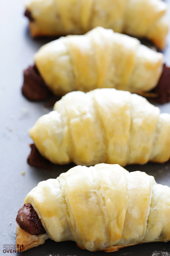
[[[0, 256], [19, 255], [17, 252], [3, 252], [3, 245], [15, 244], [15, 218], [27, 193], [38, 182], [56, 178], [71, 167], [57, 166], [55, 171], [48, 172], [31, 168], [26, 161], [30, 152], [29, 143], [32, 143], [28, 129], [50, 109], [44, 103], [32, 103], [22, 96], [22, 72], [33, 63], [33, 54], [40, 46], [51, 39], [32, 39], [23, 13], [24, 0], [0, 1]], [[165, 61], [170, 65], [170, 34], [164, 53]], [[161, 112], [170, 113], [170, 103], [159, 107]], [[144, 171], [153, 175], [158, 183], [170, 186], [170, 161], [165, 164], [133, 165], [127, 169]], [[22, 255], [101, 256], [106, 253], [82, 250], [70, 241], [56, 243], [48, 239], [45, 244]], [[170, 255], [170, 242], [138, 244], [108, 255], [167, 256]]]

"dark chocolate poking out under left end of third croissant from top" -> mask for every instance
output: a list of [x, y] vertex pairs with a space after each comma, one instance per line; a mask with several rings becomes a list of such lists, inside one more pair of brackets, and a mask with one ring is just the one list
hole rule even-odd
[[45, 159], [38, 149], [36, 148], [35, 144], [30, 144], [31, 152], [28, 156], [27, 162], [30, 166], [34, 166], [39, 169], [49, 169], [51, 168], [52, 163]]

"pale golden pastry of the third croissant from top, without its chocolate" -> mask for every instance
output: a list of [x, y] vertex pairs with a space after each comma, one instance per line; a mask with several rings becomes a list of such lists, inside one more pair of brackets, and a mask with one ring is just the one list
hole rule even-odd
[[114, 88], [66, 94], [29, 133], [54, 164], [125, 166], [170, 158], [170, 114]]

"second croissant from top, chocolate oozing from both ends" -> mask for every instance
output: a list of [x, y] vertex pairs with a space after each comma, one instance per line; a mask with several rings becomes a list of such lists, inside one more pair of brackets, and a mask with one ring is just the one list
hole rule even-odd
[[42, 99], [45, 85], [55, 95], [105, 87], [140, 94], [157, 86], [163, 75], [163, 54], [138, 39], [97, 27], [83, 36], [61, 37], [42, 46], [35, 54], [35, 65], [36, 69], [24, 72], [22, 92], [28, 99], [40, 97], [40, 92], [32, 96], [40, 82]]

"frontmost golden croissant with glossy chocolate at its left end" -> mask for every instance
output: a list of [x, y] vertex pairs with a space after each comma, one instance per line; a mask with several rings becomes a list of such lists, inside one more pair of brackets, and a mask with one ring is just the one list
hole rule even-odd
[[169, 216], [170, 188], [156, 184], [153, 176], [129, 173], [118, 164], [76, 166], [28, 193], [16, 219], [17, 244], [27, 250], [50, 238], [73, 240], [89, 251], [113, 252], [169, 241]]

